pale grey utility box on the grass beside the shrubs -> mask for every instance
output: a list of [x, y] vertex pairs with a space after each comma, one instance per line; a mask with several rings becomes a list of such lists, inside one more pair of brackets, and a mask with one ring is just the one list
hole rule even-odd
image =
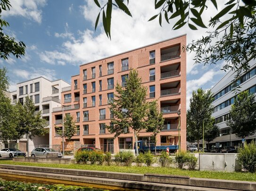
[[240, 171], [237, 153], [199, 153], [199, 170]]

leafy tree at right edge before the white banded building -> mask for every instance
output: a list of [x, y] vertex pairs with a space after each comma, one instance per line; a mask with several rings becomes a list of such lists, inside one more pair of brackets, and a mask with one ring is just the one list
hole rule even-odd
[[238, 138], [254, 135], [256, 132], [256, 98], [247, 91], [240, 92], [231, 106], [230, 119], [226, 122]]

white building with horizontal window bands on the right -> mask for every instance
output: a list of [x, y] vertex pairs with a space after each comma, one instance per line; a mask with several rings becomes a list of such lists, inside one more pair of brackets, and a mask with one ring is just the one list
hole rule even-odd
[[[256, 93], [256, 61], [249, 61], [250, 70], [244, 73], [241, 79], [237, 82], [240, 86], [239, 91], [249, 90], [251, 93]], [[212, 145], [224, 146], [240, 146], [242, 140], [237, 138], [232, 133], [230, 127], [226, 125], [231, 110], [231, 104], [234, 102], [234, 97], [239, 92], [231, 91], [233, 89], [232, 81], [236, 73], [229, 71], [215, 86], [211, 89], [214, 95], [214, 113], [216, 124], [219, 126], [219, 137], [212, 141]], [[256, 134], [246, 139], [256, 138]]]

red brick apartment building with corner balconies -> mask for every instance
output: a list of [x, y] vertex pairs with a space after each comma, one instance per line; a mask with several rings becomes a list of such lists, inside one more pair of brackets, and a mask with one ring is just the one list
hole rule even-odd
[[[64, 114], [74, 116], [77, 135], [72, 140], [81, 145], [98, 147], [116, 153], [132, 148], [134, 135], [122, 134], [114, 139], [105, 129], [113, 117], [108, 101], [113, 98], [116, 83], [123, 84], [131, 68], [139, 71], [143, 85], [148, 87], [147, 100], [158, 100], [165, 118], [157, 145], [178, 144], [178, 111], [181, 119], [181, 148], [186, 149], [186, 35], [116, 54], [80, 66], [80, 74], [71, 77], [71, 87], [62, 89]], [[62, 138], [56, 127], [62, 127], [62, 107], [53, 108], [52, 145]], [[55, 119], [55, 120], [54, 120]], [[149, 132], [140, 132], [139, 140], [149, 140]]]

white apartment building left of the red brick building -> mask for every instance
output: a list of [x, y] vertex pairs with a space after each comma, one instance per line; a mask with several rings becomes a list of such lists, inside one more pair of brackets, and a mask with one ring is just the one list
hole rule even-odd
[[[42, 118], [44, 118], [48, 124], [48, 126], [46, 127], [47, 129], [49, 129], [48, 134], [43, 137], [35, 137], [33, 140], [29, 140], [29, 152], [31, 152], [33, 148], [37, 146], [52, 145], [52, 108], [61, 107], [60, 99], [62, 88], [65, 89], [69, 87], [71, 87], [70, 84], [68, 84], [64, 80], [50, 81], [44, 77], [38, 77], [18, 83], [17, 91], [10, 92], [10, 99], [12, 104], [16, 104], [17, 101], [23, 103], [27, 96], [29, 96], [30, 99], [33, 99], [36, 111], [42, 112]], [[17, 142], [20, 143], [20, 150], [26, 150], [26, 136], [24, 136]]]

